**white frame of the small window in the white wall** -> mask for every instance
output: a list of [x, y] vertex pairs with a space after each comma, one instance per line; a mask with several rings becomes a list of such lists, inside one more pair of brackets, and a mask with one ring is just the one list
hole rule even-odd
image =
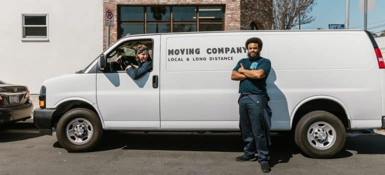
[[[24, 16], [45, 16], [45, 25], [25, 25]], [[26, 36], [25, 27], [45, 27], [45, 36]], [[48, 41], [48, 13], [21, 13], [21, 40], [37, 40], [37, 41]]]

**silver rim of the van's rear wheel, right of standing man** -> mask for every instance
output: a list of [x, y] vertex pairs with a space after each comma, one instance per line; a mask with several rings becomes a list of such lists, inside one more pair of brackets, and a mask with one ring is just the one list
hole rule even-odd
[[318, 121], [307, 129], [307, 141], [317, 149], [327, 149], [335, 142], [335, 129], [329, 123]]

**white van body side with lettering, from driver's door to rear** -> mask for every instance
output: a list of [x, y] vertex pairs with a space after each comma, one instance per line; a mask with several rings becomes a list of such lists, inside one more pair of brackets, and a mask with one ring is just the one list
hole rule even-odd
[[[261, 55], [271, 60], [267, 92], [273, 130], [289, 130], [294, 107], [312, 96], [338, 99], [349, 120], [367, 120], [350, 121], [352, 129], [381, 126], [379, 69], [364, 31], [258, 31], [161, 36], [161, 129], [178, 128], [177, 121], [185, 123], [180, 127], [201, 121], [199, 129], [220, 129], [225, 121], [238, 127], [239, 82], [230, 75], [246, 52], [212, 54], [212, 48], [236, 51], [250, 37], [262, 39]], [[228, 56], [232, 59], [210, 60]]]

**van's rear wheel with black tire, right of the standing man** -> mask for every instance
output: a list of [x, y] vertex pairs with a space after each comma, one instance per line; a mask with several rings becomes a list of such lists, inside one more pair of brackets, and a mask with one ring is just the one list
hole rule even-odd
[[[329, 129], [322, 130], [322, 124]], [[319, 136], [321, 132], [323, 135]], [[325, 134], [326, 140], [323, 139]], [[332, 139], [332, 141], [327, 139]], [[308, 156], [330, 158], [340, 152], [345, 145], [346, 131], [341, 120], [334, 114], [317, 110], [305, 114], [298, 121], [295, 127], [294, 140], [297, 146]]]

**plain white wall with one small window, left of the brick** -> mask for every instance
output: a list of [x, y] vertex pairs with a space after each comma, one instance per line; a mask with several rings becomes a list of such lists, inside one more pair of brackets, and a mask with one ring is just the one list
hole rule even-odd
[[[44, 79], [84, 68], [103, 45], [102, 0], [0, 2], [0, 79], [39, 93]], [[22, 41], [22, 13], [48, 13], [49, 41]]]

